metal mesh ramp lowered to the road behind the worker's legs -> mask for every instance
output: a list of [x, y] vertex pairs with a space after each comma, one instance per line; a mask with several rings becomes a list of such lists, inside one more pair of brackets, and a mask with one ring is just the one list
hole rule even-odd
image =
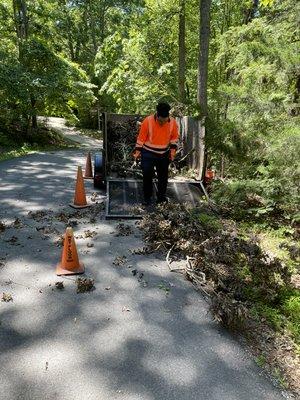
[[[154, 191], [156, 184], [154, 183]], [[176, 203], [188, 203], [196, 207], [204, 193], [197, 182], [169, 181], [167, 197]], [[143, 187], [141, 180], [108, 179], [106, 218], [141, 218]]]

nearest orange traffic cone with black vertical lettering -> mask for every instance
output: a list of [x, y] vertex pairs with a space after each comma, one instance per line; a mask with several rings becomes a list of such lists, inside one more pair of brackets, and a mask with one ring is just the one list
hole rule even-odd
[[64, 238], [64, 247], [61, 262], [56, 266], [56, 275], [83, 274], [84, 265], [79, 262], [73, 229], [67, 228]]

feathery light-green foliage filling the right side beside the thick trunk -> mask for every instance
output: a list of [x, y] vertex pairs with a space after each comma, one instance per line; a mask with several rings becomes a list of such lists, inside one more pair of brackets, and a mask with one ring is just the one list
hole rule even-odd
[[298, 218], [299, 11], [293, 0], [266, 1], [250, 23], [232, 20], [221, 34], [215, 27], [206, 144], [210, 163], [225, 156], [226, 175], [236, 179], [223, 186], [223, 199], [220, 188], [216, 193], [222, 204], [235, 207], [235, 214], [240, 205], [250, 207], [241, 210], [244, 216]]

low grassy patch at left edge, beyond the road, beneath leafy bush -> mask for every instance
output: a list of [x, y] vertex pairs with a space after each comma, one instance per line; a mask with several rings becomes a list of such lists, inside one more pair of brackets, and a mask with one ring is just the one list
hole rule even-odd
[[0, 132], [0, 161], [25, 156], [39, 151], [52, 151], [79, 147], [56, 131], [39, 128], [34, 134], [22, 137]]

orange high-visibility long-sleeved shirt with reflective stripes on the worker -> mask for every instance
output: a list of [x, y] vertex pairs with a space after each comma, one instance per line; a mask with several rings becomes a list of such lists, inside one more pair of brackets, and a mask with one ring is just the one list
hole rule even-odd
[[135, 148], [164, 154], [170, 148], [177, 148], [178, 137], [178, 126], [174, 118], [160, 125], [155, 115], [149, 115], [142, 122]]

